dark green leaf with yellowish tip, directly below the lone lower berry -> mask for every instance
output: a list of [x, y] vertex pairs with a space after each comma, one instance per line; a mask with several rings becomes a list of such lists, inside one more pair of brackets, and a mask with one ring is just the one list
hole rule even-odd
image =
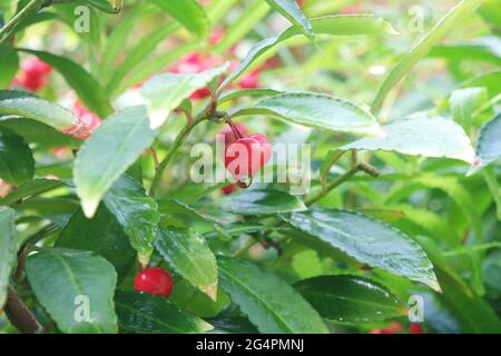
[[117, 290], [115, 296], [120, 329], [138, 334], [205, 333], [213, 327], [179, 309], [165, 298]]

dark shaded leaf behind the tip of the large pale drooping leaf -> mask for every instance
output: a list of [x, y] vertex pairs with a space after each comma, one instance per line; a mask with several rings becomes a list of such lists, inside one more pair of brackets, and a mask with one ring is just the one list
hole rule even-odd
[[79, 209], [61, 230], [57, 247], [94, 251], [105, 257], [117, 270], [120, 279], [130, 270], [136, 253], [116, 217], [100, 207], [92, 219]]

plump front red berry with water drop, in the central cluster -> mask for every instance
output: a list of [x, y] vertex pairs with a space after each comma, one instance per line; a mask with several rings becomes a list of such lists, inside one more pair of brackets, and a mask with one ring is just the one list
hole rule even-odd
[[255, 134], [226, 146], [225, 167], [237, 182], [243, 182], [254, 177], [269, 158], [272, 145], [265, 136]]

